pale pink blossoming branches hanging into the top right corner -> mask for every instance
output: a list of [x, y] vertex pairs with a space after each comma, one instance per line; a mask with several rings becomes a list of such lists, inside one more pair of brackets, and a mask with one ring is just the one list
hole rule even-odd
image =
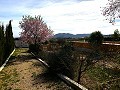
[[103, 8], [103, 15], [114, 24], [115, 19], [120, 18], [120, 0], [108, 0], [108, 4]]

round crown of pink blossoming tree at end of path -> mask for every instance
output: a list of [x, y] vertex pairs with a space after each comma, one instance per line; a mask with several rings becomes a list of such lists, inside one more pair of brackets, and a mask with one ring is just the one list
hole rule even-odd
[[40, 15], [35, 17], [23, 16], [19, 24], [22, 29], [21, 40], [28, 44], [40, 44], [53, 37], [53, 31], [48, 28]]

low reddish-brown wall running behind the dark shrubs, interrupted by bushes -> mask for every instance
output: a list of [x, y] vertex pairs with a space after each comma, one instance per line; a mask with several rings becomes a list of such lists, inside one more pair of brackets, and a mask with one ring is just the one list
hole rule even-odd
[[[86, 49], [92, 49], [89, 43], [87, 42], [72, 42], [73, 46], [76, 48], [86, 48]], [[42, 45], [40, 49], [43, 51], [53, 51], [53, 50], [59, 50], [60, 45], [59, 44], [48, 44], [48, 45]], [[115, 43], [103, 43], [100, 47], [100, 50], [102, 52], [120, 52], [120, 44]]]

